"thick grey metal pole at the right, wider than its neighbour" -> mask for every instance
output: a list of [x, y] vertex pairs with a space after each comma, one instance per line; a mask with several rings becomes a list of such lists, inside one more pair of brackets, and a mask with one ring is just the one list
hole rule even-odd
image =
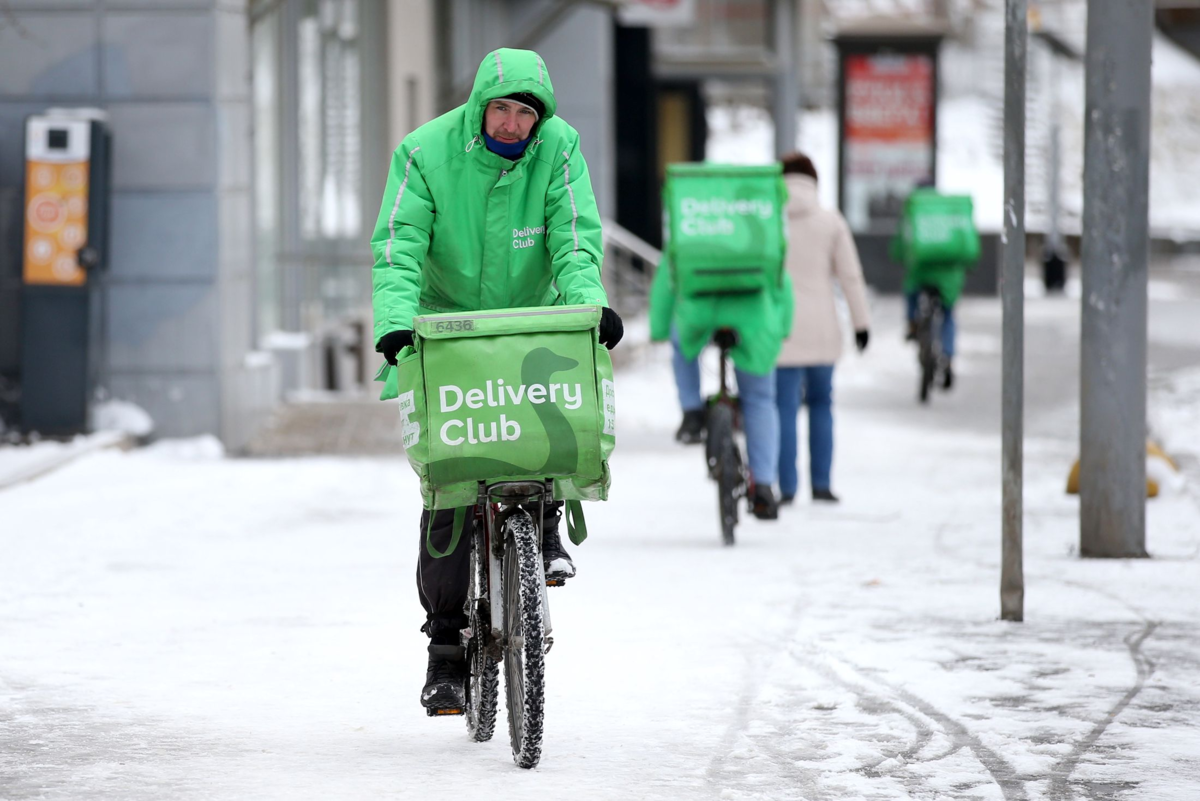
[[1153, 0], [1090, 0], [1084, 132], [1080, 553], [1146, 555]]

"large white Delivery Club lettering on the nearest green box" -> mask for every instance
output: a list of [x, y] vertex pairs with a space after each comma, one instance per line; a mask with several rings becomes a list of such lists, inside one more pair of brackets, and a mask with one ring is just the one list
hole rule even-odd
[[[564, 409], [578, 409], [583, 405], [583, 386], [581, 384], [505, 384], [504, 379], [488, 380], [482, 387], [463, 390], [454, 384], [438, 387], [438, 402], [442, 414], [452, 414], [463, 409], [498, 409], [520, 406], [522, 403], [541, 405], [551, 403]], [[460, 412], [462, 414], [462, 412]], [[485, 412], [487, 415], [487, 412]], [[491, 415], [488, 415], [491, 416]], [[521, 439], [521, 423], [500, 414], [499, 420], [480, 422], [474, 416], [466, 420], [451, 417], [442, 423], [438, 432], [442, 441], [450, 446], [469, 442], [511, 442]]]

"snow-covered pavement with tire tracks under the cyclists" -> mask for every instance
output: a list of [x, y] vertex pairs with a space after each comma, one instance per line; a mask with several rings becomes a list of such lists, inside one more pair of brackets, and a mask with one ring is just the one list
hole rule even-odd
[[[1153, 559], [1080, 560], [1075, 390], [1031, 389], [1026, 622], [998, 621], [997, 302], [964, 303], [962, 386], [928, 409], [875, 307], [839, 368], [842, 504], [732, 549], [667, 354], [618, 375], [534, 771], [418, 705], [402, 458], [163, 442], [0, 493], [0, 799], [1200, 797], [1200, 477], [1150, 502]], [[1030, 301], [1049, 337], [1073, 314]], [[1200, 450], [1200, 375], [1164, 375], [1152, 417]]]

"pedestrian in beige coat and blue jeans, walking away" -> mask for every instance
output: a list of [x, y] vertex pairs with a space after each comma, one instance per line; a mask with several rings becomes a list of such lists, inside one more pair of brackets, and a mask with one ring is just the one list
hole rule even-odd
[[809, 478], [812, 500], [833, 501], [833, 366], [841, 356], [841, 326], [834, 305], [834, 279], [850, 306], [858, 350], [866, 348], [870, 315], [863, 266], [850, 225], [838, 211], [817, 203], [817, 170], [808, 156], [784, 157], [787, 182], [787, 272], [796, 297], [792, 335], [784, 342], [775, 369], [779, 405], [780, 502], [796, 499], [796, 418], [800, 403], [809, 408]]

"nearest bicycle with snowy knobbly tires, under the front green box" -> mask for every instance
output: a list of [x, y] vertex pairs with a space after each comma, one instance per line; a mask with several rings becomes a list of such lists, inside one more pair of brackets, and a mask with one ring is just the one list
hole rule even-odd
[[564, 583], [547, 580], [541, 562], [541, 513], [552, 500], [551, 481], [480, 482], [469, 560], [467, 733], [492, 739], [503, 663], [512, 759], [526, 769], [541, 759], [545, 657], [554, 643], [546, 586]]

